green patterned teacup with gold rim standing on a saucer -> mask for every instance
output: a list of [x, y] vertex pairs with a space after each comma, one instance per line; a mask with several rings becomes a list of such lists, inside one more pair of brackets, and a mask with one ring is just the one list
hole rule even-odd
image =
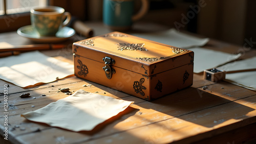
[[40, 36], [55, 36], [59, 28], [70, 22], [71, 14], [55, 6], [35, 7], [30, 10], [30, 18]]

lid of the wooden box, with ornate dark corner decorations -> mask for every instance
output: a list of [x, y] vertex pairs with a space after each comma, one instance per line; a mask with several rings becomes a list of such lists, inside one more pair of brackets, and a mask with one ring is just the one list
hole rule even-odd
[[113, 67], [147, 76], [194, 62], [193, 51], [120, 32], [75, 42], [73, 53], [101, 63], [108, 56]]

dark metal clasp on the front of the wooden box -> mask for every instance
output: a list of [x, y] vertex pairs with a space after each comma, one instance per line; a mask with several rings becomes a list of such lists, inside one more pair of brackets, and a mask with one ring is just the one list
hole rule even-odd
[[116, 71], [113, 68], [111, 68], [111, 65], [115, 64], [115, 60], [111, 59], [108, 56], [104, 57], [102, 60], [105, 62], [103, 70], [105, 71], [106, 77], [108, 79], [111, 79], [112, 74], [116, 73]]

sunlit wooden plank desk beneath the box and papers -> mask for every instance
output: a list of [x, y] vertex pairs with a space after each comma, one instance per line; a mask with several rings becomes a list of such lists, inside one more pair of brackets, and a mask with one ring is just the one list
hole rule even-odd
[[[95, 28], [97, 35], [105, 33], [98, 29], [103, 28], [101, 24], [89, 25]], [[15, 32], [0, 34], [0, 37], [1, 41], [11, 42], [15, 39], [15, 44], [30, 43]], [[67, 42], [66, 49], [43, 52], [57, 58], [65, 57], [72, 63], [71, 44], [79, 39], [79, 36], [73, 37]], [[230, 53], [242, 49], [215, 40], [210, 40], [205, 47]], [[256, 55], [255, 53], [253, 49], [246, 51], [243, 58]], [[256, 92], [224, 81], [214, 83], [203, 79], [202, 74], [194, 74], [194, 84], [190, 88], [152, 102], [75, 76], [29, 89], [22, 89], [0, 80], [1, 92], [4, 90], [4, 84], [9, 84], [8, 104], [11, 105], [8, 110], [9, 140], [2, 137], [0, 143], [242, 143], [256, 137]], [[83, 84], [92, 86], [83, 87]], [[202, 89], [205, 85], [207, 90]], [[59, 88], [98, 92], [135, 103], [89, 132], [72, 132], [20, 117], [24, 112], [39, 109], [67, 97], [68, 95], [57, 93]], [[30, 93], [31, 97], [20, 99], [19, 96], [23, 93]], [[42, 97], [42, 94], [46, 96]], [[32, 99], [33, 97], [36, 99]], [[0, 133], [3, 136], [3, 95], [0, 100]], [[31, 107], [32, 105], [35, 107]]]

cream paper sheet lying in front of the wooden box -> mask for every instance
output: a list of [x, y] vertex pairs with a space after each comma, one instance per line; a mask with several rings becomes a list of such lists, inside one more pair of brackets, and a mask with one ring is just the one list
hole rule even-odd
[[90, 131], [132, 103], [134, 102], [78, 90], [69, 97], [24, 113], [22, 116], [30, 121], [71, 131]]

